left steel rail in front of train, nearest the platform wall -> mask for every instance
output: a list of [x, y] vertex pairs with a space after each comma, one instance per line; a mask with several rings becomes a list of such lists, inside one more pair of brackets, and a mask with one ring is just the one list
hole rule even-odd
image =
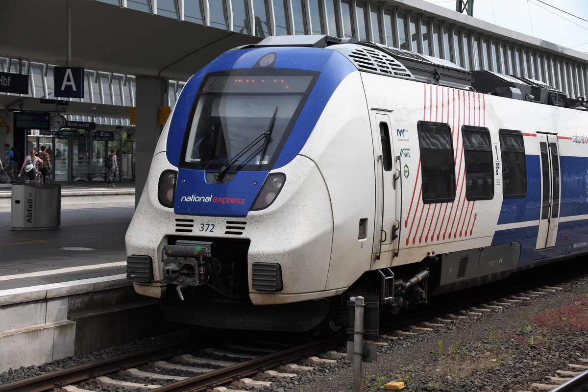
[[41, 376], [26, 378], [25, 380], [16, 381], [0, 385], [0, 392], [40, 392], [48, 391], [56, 386], [79, 383], [88, 380], [94, 373], [113, 373], [121, 370], [121, 367], [133, 367], [147, 363], [153, 357], [168, 357], [178, 353], [178, 350], [194, 350], [202, 346], [202, 343], [195, 343], [194, 340], [182, 340], [175, 343], [169, 343], [165, 346], [152, 347], [151, 349], [138, 351], [136, 353], [125, 354], [123, 356], [112, 357], [102, 361], [83, 364], [64, 370], [54, 371], [52, 373], [42, 374]]

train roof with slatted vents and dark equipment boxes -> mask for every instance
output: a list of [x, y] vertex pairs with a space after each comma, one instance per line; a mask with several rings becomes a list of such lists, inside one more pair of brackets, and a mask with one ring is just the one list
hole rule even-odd
[[329, 35], [272, 35], [242, 48], [302, 46], [342, 53], [359, 71], [470, 91], [521, 99], [545, 105], [588, 110], [584, 97], [570, 99], [564, 92], [534, 79], [492, 71], [468, 71], [450, 61], [392, 48], [381, 43], [341, 39]]

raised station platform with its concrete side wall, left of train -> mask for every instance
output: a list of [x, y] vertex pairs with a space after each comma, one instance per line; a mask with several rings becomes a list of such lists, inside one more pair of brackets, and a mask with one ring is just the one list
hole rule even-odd
[[[0, 212], [0, 372], [161, 331], [156, 301], [135, 294], [126, 280], [135, 187], [116, 186], [63, 183], [54, 229], [15, 230], [10, 210]], [[3, 199], [11, 193], [10, 185], [0, 187]], [[128, 200], [113, 201], [121, 195]]]

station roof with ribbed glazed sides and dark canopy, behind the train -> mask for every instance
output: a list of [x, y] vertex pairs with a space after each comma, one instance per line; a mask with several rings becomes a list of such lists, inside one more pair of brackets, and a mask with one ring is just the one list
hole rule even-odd
[[[536, 79], [588, 95], [588, 55], [423, 0], [69, 0], [72, 66], [93, 91], [68, 115], [128, 117], [136, 76], [183, 81], [223, 51], [266, 35], [353, 36], [436, 56], [466, 69]], [[44, 110], [52, 66], [68, 55], [67, 0], [2, 0], [0, 71], [31, 76], [28, 96], [0, 93], [0, 108]], [[3, 60], [4, 59], [4, 60]], [[18, 64], [19, 63], [19, 64]], [[90, 71], [93, 70], [93, 71]]]

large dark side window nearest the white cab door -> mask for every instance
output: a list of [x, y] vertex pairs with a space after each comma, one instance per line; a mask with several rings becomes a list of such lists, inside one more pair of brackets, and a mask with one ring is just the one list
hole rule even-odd
[[455, 160], [449, 125], [417, 123], [423, 203], [445, 203], [455, 199]]

